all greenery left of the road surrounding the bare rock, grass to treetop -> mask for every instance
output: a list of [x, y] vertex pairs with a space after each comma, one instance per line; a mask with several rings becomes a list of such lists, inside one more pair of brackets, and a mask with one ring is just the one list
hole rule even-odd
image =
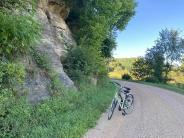
[[[112, 99], [116, 88], [105, 78], [106, 61], [116, 47], [115, 32], [126, 27], [136, 4], [134, 0], [66, 3], [71, 8], [66, 20], [78, 46], [69, 50], [63, 65], [77, 82], [78, 92], [63, 87], [48, 55], [34, 47], [41, 35], [33, 18], [36, 1], [0, 1], [0, 137], [81, 137]], [[24, 96], [18, 92], [28, 73], [20, 63], [25, 56], [50, 79], [51, 98], [37, 105], [26, 101], [26, 92]], [[91, 78], [98, 78], [98, 86], [88, 83]]]

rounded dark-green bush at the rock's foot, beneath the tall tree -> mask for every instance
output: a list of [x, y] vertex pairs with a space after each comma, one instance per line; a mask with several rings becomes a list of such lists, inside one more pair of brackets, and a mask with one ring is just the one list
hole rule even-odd
[[63, 61], [64, 70], [74, 81], [80, 81], [85, 76], [104, 76], [107, 73], [103, 59], [96, 55], [94, 49], [74, 48], [69, 51]]

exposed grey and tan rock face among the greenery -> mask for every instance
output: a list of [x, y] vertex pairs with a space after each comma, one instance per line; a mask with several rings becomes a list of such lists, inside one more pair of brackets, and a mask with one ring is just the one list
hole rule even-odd
[[[37, 11], [37, 18], [43, 26], [43, 31], [41, 41], [36, 48], [48, 56], [51, 68], [58, 74], [61, 85], [75, 88], [61, 64], [61, 59], [65, 57], [67, 49], [76, 45], [64, 21], [69, 14], [69, 8], [61, 0], [40, 0]], [[35, 103], [48, 98], [49, 83], [47, 75], [39, 69], [33, 78], [27, 77], [25, 86], [29, 88], [29, 101]]]

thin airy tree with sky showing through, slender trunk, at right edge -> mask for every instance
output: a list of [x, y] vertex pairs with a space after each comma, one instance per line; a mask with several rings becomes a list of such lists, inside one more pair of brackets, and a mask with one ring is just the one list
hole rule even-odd
[[180, 62], [184, 53], [184, 39], [177, 30], [164, 29], [160, 32], [160, 38], [156, 41], [156, 47], [161, 49], [165, 59], [165, 79], [172, 69], [174, 62]]

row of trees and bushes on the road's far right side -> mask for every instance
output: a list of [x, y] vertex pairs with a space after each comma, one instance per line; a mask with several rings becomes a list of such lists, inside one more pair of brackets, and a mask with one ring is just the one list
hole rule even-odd
[[[177, 30], [163, 29], [155, 45], [133, 64], [132, 72], [138, 80], [167, 82], [168, 74], [175, 65], [182, 64], [184, 39]], [[183, 65], [180, 66], [183, 70]]]

